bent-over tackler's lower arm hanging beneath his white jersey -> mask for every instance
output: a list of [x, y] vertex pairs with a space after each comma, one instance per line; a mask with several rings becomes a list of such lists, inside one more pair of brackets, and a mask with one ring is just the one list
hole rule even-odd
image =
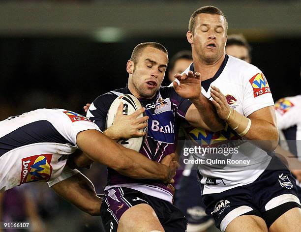
[[52, 189], [84, 212], [100, 216], [102, 199], [96, 196], [94, 185], [85, 175], [73, 175], [53, 185]]

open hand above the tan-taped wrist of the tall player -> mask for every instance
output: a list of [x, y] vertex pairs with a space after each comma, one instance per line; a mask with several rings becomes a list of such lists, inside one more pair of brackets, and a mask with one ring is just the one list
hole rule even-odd
[[218, 116], [221, 119], [226, 120], [230, 114], [230, 106], [228, 105], [226, 97], [217, 87], [211, 86], [210, 91], [211, 97], [213, 98], [212, 103], [216, 109]]

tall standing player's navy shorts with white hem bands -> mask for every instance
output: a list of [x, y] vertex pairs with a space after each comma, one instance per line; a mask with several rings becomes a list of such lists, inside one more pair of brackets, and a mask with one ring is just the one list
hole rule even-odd
[[203, 195], [203, 200], [206, 213], [214, 217], [215, 226], [222, 232], [241, 215], [262, 217], [269, 228], [289, 209], [301, 207], [296, 180], [287, 169], [265, 170], [253, 183]]

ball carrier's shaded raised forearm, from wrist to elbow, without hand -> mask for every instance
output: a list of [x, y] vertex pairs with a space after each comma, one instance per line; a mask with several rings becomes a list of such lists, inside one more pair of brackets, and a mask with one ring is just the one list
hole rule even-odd
[[[213, 106], [211, 100], [201, 94], [198, 99], [190, 99], [197, 110], [197, 114], [203, 121], [210, 131], [220, 131], [225, 128], [225, 123], [216, 113], [215, 107]], [[204, 125], [198, 124], [198, 127], [203, 127]]]

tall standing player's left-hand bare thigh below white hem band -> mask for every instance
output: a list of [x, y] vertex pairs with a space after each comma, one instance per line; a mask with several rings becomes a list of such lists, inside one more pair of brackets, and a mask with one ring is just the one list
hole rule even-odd
[[242, 215], [233, 219], [225, 232], [268, 232], [266, 222], [255, 215]]

